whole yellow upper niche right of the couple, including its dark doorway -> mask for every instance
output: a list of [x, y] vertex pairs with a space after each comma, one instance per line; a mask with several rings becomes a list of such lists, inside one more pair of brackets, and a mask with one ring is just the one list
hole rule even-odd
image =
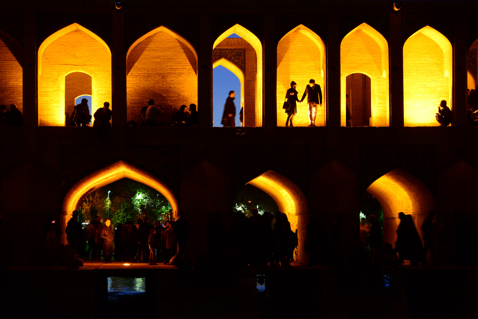
[[[344, 37], [340, 44], [340, 123], [342, 126], [389, 126], [388, 72], [388, 44], [378, 31], [367, 23], [362, 23]], [[357, 73], [366, 75], [368, 79]], [[353, 87], [358, 90], [351, 91], [350, 88]], [[353, 105], [352, 109], [348, 109], [351, 107], [350, 100], [353, 99], [351, 94], [355, 96], [355, 101], [369, 100], [369, 109], [364, 108], [365, 111], [361, 112], [362, 102], [355, 103], [355, 110]], [[358, 110], [359, 106], [360, 110]], [[353, 123], [350, 121], [347, 123], [348, 113], [352, 117], [354, 113], [356, 114]], [[364, 118], [362, 121], [361, 114], [369, 120]]]

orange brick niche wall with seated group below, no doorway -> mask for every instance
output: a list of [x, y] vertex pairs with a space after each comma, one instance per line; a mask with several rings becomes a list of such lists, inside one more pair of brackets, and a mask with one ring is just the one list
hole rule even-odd
[[164, 31], [152, 34], [131, 50], [127, 72], [128, 120], [138, 120], [150, 99], [163, 106], [166, 123], [181, 105], [197, 105], [196, 58], [184, 43]]

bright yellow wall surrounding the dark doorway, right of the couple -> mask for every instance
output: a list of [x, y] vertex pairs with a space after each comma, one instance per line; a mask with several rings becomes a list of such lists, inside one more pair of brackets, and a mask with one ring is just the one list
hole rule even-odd
[[346, 78], [352, 73], [370, 77], [370, 126], [389, 126], [389, 58], [387, 40], [377, 30], [362, 23], [340, 44], [340, 124], [346, 126]]

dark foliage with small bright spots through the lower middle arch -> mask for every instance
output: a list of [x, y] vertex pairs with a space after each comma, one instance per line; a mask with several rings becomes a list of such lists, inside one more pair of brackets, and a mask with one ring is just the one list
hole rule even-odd
[[261, 215], [266, 211], [274, 213], [279, 210], [272, 197], [261, 189], [249, 184], [239, 189], [233, 203], [232, 209], [246, 214], [247, 217], [252, 216], [251, 210], [254, 208], [257, 208]]

